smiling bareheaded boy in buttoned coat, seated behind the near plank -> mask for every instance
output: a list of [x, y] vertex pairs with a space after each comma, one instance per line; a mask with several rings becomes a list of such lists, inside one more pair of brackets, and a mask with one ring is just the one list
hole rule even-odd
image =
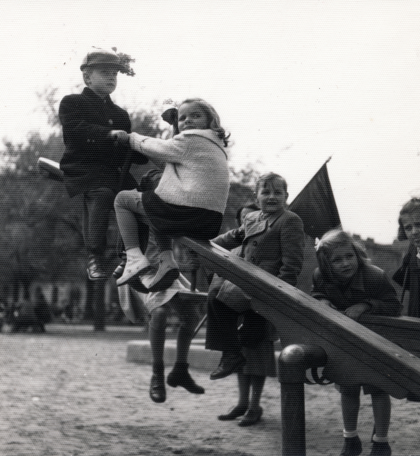
[[[228, 250], [242, 246], [242, 258], [296, 285], [305, 238], [301, 219], [285, 208], [286, 181], [274, 173], [261, 176], [255, 185], [255, 197], [261, 210], [249, 213], [240, 228], [221, 234], [213, 242]], [[223, 286], [212, 282], [208, 292], [206, 348], [223, 352], [218, 368], [210, 375], [212, 380], [240, 371], [245, 361], [237, 331], [239, 313], [225, 305], [236, 289], [223, 292]], [[248, 311], [243, 326], [263, 334], [265, 323], [261, 316]]]

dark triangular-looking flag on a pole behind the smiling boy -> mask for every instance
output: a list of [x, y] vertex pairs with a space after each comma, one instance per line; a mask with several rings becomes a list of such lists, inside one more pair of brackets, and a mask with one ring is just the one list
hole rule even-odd
[[288, 207], [302, 219], [304, 231], [311, 238], [321, 238], [328, 230], [341, 225], [328, 177], [327, 162]]

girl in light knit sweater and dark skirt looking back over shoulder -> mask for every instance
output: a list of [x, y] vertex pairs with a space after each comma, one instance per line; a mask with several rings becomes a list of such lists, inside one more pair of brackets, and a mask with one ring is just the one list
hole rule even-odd
[[[115, 198], [115, 213], [127, 253], [118, 285], [140, 275], [149, 291], [165, 290], [179, 275], [171, 237], [212, 239], [218, 235], [229, 191], [224, 150], [228, 137], [213, 106], [200, 98], [182, 102], [178, 129], [179, 134], [170, 140], [130, 134], [133, 150], [165, 164], [165, 168], [156, 190], [124, 191]], [[159, 247], [156, 267], [140, 250], [137, 214], [149, 224], [150, 238]]]

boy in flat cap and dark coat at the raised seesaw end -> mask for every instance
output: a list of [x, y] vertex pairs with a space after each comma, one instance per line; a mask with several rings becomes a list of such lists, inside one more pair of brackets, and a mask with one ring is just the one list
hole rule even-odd
[[[131, 132], [130, 118], [109, 98], [117, 86], [118, 72], [126, 72], [126, 68], [115, 52], [93, 48], [80, 69], [87, 87], [80, 94], [65, 96], [58, 112], [66, 146], [60, 169], [69, 196], [83, 193], [88, 275], [96, 280], [107, 277], [104, 251], [114, 197], [119, 190], [135, 188], [137, 182], [121, 176], [128, 156], [124, 140]], [[140, 155], [136, 161], [145, 163], [147, 159]]]

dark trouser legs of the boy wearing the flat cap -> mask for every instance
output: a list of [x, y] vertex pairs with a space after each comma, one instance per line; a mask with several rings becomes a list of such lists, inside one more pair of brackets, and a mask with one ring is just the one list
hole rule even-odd
[[100, 187], [83, 193], [83, 240], [91, 254], [101, 255], [106, 249], [109, 214], [114, 209], [115, 192]]

